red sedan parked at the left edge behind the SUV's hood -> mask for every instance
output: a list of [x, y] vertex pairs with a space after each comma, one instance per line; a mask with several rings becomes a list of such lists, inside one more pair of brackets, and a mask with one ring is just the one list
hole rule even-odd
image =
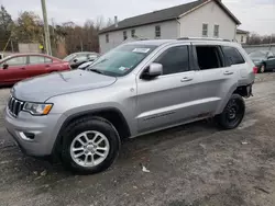
[[47, 55], [13, 55], [0, 60], [0, 85], [12, 85], [26, 78], [69, 69], [69, 62]]

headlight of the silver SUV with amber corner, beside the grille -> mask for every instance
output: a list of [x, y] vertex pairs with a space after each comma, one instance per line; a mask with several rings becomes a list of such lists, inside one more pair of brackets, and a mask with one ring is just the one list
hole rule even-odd
[[53, 104], [40, 104], [26, 102], [23, 111], [29, 112], [33, 115], [47, 115], [52, 110]]

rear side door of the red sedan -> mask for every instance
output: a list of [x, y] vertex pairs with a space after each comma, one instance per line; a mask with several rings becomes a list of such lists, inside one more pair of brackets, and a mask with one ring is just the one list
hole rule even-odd
[[51, 71], [53, 60], [44, 56], [29, 56], [26, 66], [28, 77], [35, 77]]

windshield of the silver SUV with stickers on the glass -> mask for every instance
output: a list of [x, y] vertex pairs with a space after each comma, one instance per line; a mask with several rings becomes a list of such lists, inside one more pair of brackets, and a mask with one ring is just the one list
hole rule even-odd
[[98, 70], [112, 77], [125, 76], [156, 47], [152, 45], [123, 45], [101, 56], [87, 70]]

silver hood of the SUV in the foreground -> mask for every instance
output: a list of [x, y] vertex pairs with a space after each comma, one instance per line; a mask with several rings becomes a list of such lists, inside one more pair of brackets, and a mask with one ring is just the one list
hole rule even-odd
[[55, 95], [108, 87], [116, 80], [92, 71], [74, 70], [26, 79], [16, 83], [11, 92], [22, 101], [44, 102]]

